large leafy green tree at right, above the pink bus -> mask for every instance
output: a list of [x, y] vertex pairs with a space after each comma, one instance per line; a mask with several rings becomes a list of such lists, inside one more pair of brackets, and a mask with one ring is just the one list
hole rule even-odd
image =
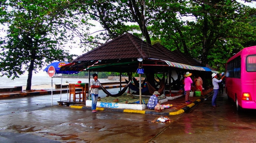
[[[229, 55], [255, 43], [255, 8], [235, 0], [189, 0], [173, 12], [168, 7], [171, 4], [164, 5], [166, 9], [163, 7], [164, 12], [152, 23], [153, 39], [203, 65], [223, 70]], [[178, 19], [180, 16], [183, 18]]]

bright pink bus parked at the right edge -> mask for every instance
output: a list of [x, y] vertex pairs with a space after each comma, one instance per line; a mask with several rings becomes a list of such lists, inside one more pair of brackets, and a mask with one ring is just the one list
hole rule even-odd
[[256, 46], [246, 47], [228, 60], [225, 84], [238, 111], [256, 109]]

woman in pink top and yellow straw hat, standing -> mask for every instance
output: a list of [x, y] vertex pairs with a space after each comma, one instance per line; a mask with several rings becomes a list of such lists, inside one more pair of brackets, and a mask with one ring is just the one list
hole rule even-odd
[[189, 72], [186, 72], [184, 74], [184, 90], [185, 90], [185, 103], [190, 104], [191, 101], [189, 100], [189, 92], [191, 90], [191, 84], [193, 83], [192, 79], [189, 77], [192, 74]]

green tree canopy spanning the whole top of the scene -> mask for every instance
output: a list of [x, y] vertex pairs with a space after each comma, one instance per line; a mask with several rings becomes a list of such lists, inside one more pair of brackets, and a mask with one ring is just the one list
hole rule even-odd
[[[12, 78], [25, 71], [32, 76], [54, 60], [71, 61], [75, 55], [65, 45], [77, 44], [75, 37], [88, 51], [129, 32], [218, 71], [256, 39], [256, 9], [235, 0], [1, 0], [0, 6], [0, 24], [7, 27], [1, 29], [7, 35], [0, 37], [0, 72]], [[92, 35], [93, 22], [104, 30]]]

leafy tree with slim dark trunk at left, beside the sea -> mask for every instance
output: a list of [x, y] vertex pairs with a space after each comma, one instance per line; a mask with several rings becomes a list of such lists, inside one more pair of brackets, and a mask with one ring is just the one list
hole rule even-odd
[[1, 76], [14, 79], [28, 71], [26, 90], [30, 90], [33, 71], [75, 56], [64, 49], [81, 33], [76, 33], [80, 18], [67, 9], [68, 0], [1, 0], [0, 4], [0, 24], [7, 27], [1, 29], [7, 33], [0, 40]]

